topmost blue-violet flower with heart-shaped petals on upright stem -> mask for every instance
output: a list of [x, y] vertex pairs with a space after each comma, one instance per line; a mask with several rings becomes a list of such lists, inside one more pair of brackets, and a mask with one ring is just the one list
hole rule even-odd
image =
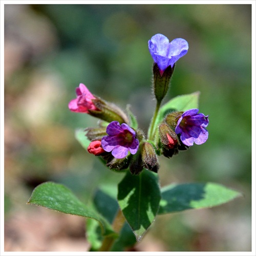
[[148, 41], [148, 49], [162, 75], [168, 66], [173, 68], [174, 63], [187, 53], [188, 43], [182, 38], [169, 42], [166, 36], [156, 34]]

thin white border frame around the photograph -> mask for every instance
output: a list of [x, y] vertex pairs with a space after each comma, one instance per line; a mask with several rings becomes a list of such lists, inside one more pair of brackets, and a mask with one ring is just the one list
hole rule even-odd
[[[250, 4], [252, 5], [252, 251], [251, 252], [5, 252], [4, 251], [4, 6], [9, 4]], [[255, 117], [256, 117], [256, 80], [255, 80], [255, 70], [256, 70], [256, 63], [255, 63], [255, 54], [256, 54], [256, 40], [255, 40], [255, 31], [256, 31], [256, 2], [255, 0], [251, 1], [222, 1], [222, 0], [215, 0], [215, 1], [205, 1], [205, 0], [198, 0], [198, 1], [137, 1], [137, 0], [130, 0], [130, 1], [119, 1], [119, 0], [112, 0], [112, 1], [35, 1], [35, 0], [28, 0], [28, 1], [0, 1], [0, 31], [1, 31], [1, 41], [0, 41], [0, 50], [1, 50], [1, 74], [0, 74], [0, 150], [1, 150], [1, 172], [0, 172], [0, 255], [26, 255], [26, 256], [34, 256], [34, 255], [195, 255], [195, 256], [216, 256], [216, 255], [228, 255], [228, 256], [237, 256], [237, 255], [256, 255], [256, 234], [255, 234], [255, 201], [256, 201], [256, 184], [255, 184]]]

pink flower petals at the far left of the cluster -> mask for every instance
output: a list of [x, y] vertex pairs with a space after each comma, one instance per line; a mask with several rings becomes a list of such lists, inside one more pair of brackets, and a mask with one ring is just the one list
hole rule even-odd
[[73, 112], [89, 114], [88, 110], [97, 110], [92, 99], [95, 97], [83, 83], [80, 83], [79, 87], [76, 88], [76, 99], [69, 102], [69, 109]]

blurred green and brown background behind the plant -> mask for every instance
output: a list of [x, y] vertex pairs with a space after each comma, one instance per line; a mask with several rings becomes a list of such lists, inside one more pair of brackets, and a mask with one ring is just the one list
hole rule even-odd
[[80, 82], [146, 131], [155, 101], [147, 41], [188, 41], [165, 101], [200, 91], [209, 139], [160, 157], [161, 186], [217, 182], [244, 197], [211, 209], [158, 216], [138, 251], [251, 250], [251, 5], [5, 5], [5, 250], [87, 250], [84, 220], [26, 205], [56, 181], [85, 203], [123, 174], [103, 166], [74, 137], [97, 125], [72, 113]]

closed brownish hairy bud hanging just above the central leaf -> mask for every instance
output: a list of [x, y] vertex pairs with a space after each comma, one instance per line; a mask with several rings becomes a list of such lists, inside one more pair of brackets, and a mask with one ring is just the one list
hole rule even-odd
[[152, 170], [157, 173], [159, 168], [158, 158], [154, 147], [149, 142], [144, 142], [141, 150], [141, 157], [144, 163], [144, 166], [148, 170]]

